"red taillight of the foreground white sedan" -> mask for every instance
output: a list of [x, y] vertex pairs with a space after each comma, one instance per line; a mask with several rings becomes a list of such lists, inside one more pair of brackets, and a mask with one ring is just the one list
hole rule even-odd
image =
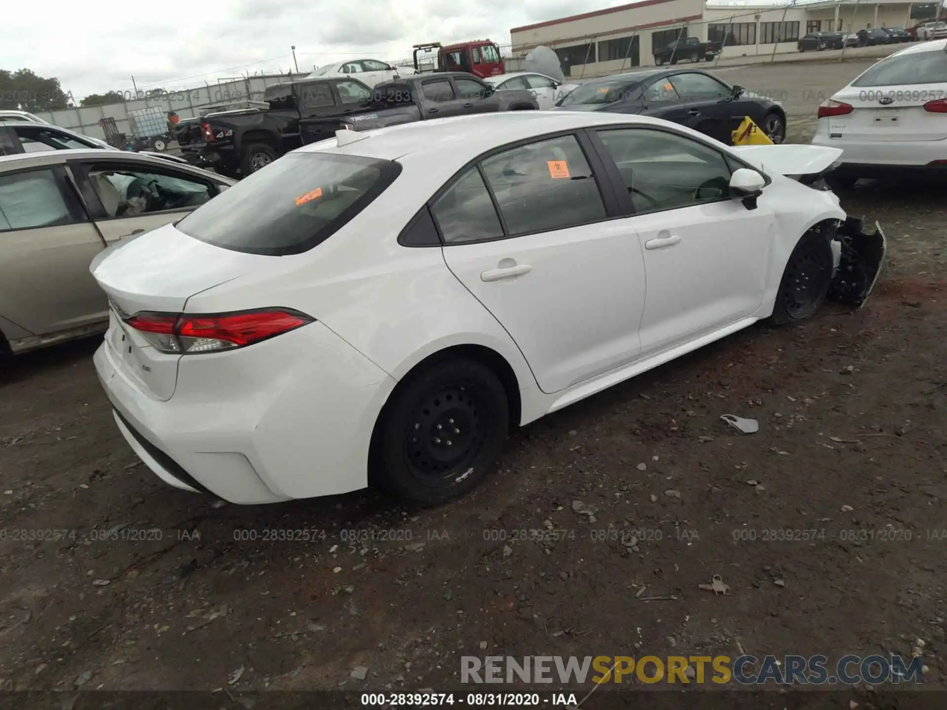
[[259, 309], [207, 315], [142, 311], [125, 323], [161, 352], [187, 355], [250, 346], [313, 320], [292, 309]]

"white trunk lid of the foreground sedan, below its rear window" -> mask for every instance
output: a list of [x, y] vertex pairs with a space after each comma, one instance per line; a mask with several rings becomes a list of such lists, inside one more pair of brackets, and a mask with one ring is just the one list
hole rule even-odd
[[104, 250], [90, 270], [109, 298], [105, 343], [116, 369], [146, 396], [170, 399], [181, 356], [157, 350], [123, 321], [138, 311], [183, 312], [190, 296], [259, 271], [260, 260], [191, 239], [173, 224]]

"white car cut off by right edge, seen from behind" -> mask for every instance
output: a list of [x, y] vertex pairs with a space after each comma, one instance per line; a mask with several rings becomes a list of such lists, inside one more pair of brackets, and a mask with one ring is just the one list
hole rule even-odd
[[813, 145], [842, 149], [831, 179], [947, 174], [947, 40], [874, 63], [819, 106]]

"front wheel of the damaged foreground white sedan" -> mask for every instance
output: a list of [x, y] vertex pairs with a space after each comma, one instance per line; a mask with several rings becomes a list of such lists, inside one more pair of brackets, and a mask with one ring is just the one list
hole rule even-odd
[[812, 317], [829, 295], [831, 271], [831, 244], [820, 230], [811, 229], [786, 261], [770, 323], [787, 326]]

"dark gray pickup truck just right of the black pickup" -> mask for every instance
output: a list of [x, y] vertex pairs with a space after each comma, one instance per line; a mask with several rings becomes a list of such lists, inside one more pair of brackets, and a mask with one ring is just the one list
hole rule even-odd
[[536, 111], [539, 104], [527, 89], [496, 91], [466, 72], [432, 72], [378, 84], [363, 110], [346, 116], [312, 116], [299, 121], [303, 143], [330, 138], [342, 128], [368, 131], [454, 115], [493, 111]]

